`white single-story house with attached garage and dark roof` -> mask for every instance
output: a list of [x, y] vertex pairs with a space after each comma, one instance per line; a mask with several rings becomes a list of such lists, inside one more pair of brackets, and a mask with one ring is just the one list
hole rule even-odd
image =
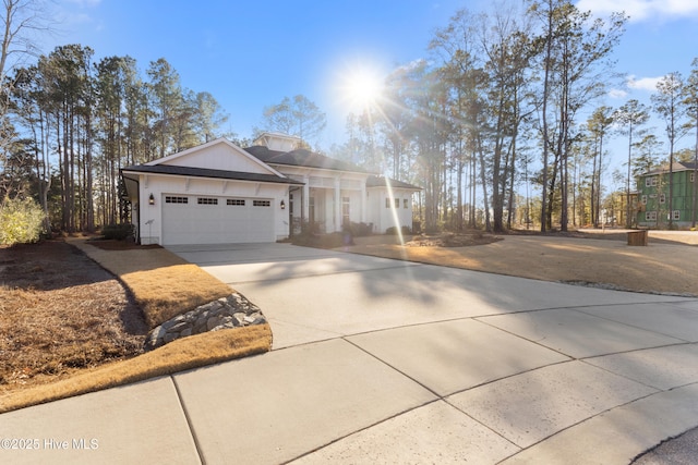
[[121, 170], [142, 244], [275, 242], [311, 223], [374, 232], [412, 224], [413, 185], [265, 133], [242, 149], [225, 138]]

